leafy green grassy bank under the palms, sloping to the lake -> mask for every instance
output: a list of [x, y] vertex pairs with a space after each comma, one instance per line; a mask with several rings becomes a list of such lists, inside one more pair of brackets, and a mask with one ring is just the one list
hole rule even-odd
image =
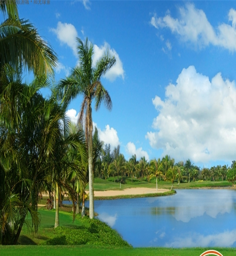
[[77, 216], [73, 222], [72, 213], [60, 211], [60, 227], [54, 229], [55, 211], [39, 210], [39, 213], [41, 225], [38, 233], [33, 235], [24, 227], [19, 244], [130, 246], [115, 230], [100, 220]]

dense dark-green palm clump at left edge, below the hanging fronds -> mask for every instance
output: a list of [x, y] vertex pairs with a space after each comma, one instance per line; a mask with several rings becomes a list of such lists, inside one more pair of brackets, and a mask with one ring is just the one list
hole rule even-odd
[[39, 89], [44, 77], [22, 84], [21, 73], [4, 67], [0, 93], [0, 224], [1, 243], [16, 244], [26, 214], [37, 231], [37, 205], [47, 184], [46, 159], [55, 145], [47, 101]]

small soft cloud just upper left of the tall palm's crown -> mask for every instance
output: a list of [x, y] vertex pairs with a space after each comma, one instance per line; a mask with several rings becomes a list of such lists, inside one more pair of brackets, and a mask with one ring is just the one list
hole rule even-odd
[[77, 56], [76, 37], [78, 34], [74, 25], [58, 21], [57, 27], [51, 28], [50, 31], [55, 33], [57, 39], [59, 39], [62, 44], [69, 46], [73, 50], [74, 55]]

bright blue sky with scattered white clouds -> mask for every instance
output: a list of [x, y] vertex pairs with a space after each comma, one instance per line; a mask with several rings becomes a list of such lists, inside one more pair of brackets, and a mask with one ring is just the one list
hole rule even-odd
[[[99, 137], [128, 160], [169, 155], [211, 167], [236, 160], [236, 1], [20, 1], [56, 52], [55, 81], [79, 60], [77, 40], [108, 49], [113, 108], [93, 109]], [[67, 115], [76, 121], [81, 96]]]

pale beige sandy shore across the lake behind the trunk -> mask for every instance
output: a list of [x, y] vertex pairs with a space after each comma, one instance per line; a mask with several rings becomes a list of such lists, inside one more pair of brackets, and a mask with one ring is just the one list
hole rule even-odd
[[[123, 195], [143, 195], [167, 192], [169, 189], [155, 188], [125, 188], [123, 190], [106, 190], [106, 191], [94, 191], [94, 196], [123, 196]], [[88, 194], [89, 192], [86, 191]]]

